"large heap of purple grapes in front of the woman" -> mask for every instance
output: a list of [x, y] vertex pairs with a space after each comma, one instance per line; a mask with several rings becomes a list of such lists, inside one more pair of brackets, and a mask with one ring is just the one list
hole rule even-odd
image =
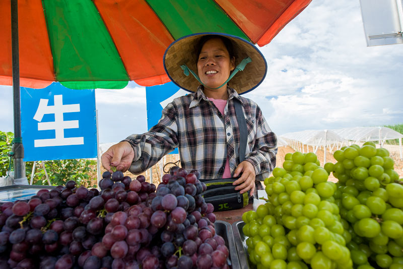
[[69, 181], [0, 205], [0, 268], [230, 268], [200, 173], [156, 186], [104, 172], [101, 191]]

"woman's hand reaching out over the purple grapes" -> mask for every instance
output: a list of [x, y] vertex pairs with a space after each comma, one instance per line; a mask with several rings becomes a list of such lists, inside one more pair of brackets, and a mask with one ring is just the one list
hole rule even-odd
[[111, 146], [101, 156], [102, 166], [112, 172], [111, 166], [116, 167], [117, 171], [125, 172], [129, 169], [133, 158], [135, 157], [135, 151], [127, 141], [119, 142]]

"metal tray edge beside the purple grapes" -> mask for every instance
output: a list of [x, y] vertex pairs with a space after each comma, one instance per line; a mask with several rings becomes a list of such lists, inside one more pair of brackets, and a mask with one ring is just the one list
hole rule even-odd
[[228, 250], [230, 253], [229, 259], [231, 261], [232, 269], [241, 268], [241, 265], [239, 264], [239, 258], [238, 258], [239, 253], [237, 252], [237, 247], [235, 246], [234, 234], [232, 231], [231, 224], [229, 224], [228, 222], [224, 222], [224, 221], [216, 221], [214, 223], [214, 228], [216, 230], [216, 234], [218, 234], [224, 238], [225, 245], [228, 247]]

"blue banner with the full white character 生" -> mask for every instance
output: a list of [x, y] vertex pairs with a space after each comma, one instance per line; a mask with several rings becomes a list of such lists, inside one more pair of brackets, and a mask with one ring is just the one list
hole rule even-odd
[[97, 156], [95, 90], [21, 87], [24, 161]]

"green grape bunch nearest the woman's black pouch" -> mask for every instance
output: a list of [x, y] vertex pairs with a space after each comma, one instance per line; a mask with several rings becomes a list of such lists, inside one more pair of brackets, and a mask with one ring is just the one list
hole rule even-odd
[[316, 154], [294, 152], [264, 180], [268, 201], [242, 216], [249, 260], [258, 269], [353, 268], [349, 223], [329, 173]]

